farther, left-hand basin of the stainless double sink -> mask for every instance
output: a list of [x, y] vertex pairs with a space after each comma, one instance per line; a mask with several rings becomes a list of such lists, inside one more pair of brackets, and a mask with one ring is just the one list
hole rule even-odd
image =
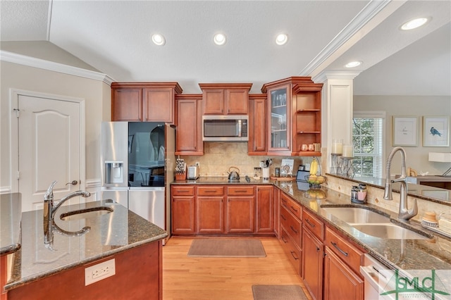
[[322, 209], [346, 223], [390, 223], [390, 218], [365, 208], [322, 207]]

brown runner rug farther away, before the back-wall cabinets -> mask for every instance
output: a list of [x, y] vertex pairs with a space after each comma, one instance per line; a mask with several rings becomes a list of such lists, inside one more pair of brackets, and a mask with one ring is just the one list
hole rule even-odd
[[188, 256], [265, 257], [259, 239], [193, 239]]

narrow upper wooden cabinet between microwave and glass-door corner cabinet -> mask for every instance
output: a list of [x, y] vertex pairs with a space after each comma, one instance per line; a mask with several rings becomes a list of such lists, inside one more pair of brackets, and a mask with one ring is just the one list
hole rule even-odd
[[267, 152], [266, 105], [266, 94], [249, 95], [247, 155], [265, 155]]

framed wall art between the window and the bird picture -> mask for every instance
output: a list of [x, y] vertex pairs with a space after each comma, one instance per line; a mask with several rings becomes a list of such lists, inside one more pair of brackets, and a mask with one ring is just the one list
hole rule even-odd
[[392, 145], [418, 146], [418, 117], [393, 116], [392, 119]]

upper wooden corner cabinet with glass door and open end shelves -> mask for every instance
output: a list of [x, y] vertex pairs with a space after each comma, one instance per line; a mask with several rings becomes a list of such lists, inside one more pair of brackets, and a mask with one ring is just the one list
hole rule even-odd
[[268, 154], [321, 156], [302, 145], [321, 143], [321, 89], [311, 77], [289, 77], [261, 87], [268, 96]]

